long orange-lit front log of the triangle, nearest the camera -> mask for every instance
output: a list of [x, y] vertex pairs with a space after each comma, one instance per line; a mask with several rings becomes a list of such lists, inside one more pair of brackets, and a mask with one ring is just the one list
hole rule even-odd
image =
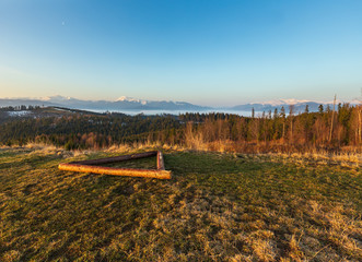
[[167, 170], [152, 170], [152, 169], [133, 169], [133, 168], [113, 168], [102, 166], [87, 166], [80, 164], [60, 164], [60, 170], [93, 172], [101, 175], [127, 176], [127, 177], [149, 177], [157, 179], [171, 179], [171, 171]]

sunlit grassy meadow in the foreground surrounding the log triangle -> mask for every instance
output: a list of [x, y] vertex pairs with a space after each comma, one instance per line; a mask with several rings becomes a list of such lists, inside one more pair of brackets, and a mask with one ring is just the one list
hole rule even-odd
[[57, 169], [119, 152], [0, 150], [0, 261], [362, 260], [359, 163], [164, 154], [172, 180]]

